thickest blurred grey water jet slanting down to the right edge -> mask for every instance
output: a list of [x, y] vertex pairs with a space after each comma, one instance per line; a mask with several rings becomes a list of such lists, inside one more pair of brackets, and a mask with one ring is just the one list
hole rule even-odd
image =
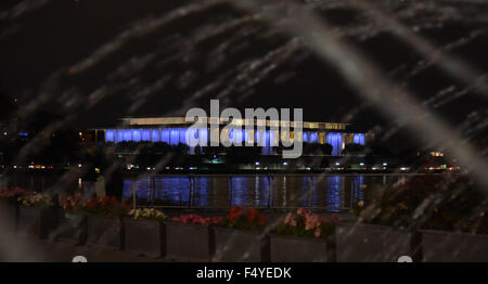
[[[235, 5], [251, 11], [260, 11], [257, 1], [232, 1]], [[286, 10], [267, 11], [272, 23], [286, 14], [294, 20], [290, 31], [305, 39], [305, 43], [322, 59], [334, 64], [358, 93], [388, 117], [408, 126], [419, 134], [424, 143], [441, 145], [455, 156], [460, 164], [485, 189], [488, 189], [486, 160], [479, 158], [475, 149], [465, 143], [458, 131], [450, 129], [444, 121], [431, 115], [431, 112], [418, 103], [413, 95], [390, 83], [385, 76], [360, 52], [339, 41], [337, 35], [324, 24], [323, 20], [308, 10], [287, 3]], [[291, 13], [293, 11], [293, 13]], [[462, 145], [462, 146], [461, 146]]]

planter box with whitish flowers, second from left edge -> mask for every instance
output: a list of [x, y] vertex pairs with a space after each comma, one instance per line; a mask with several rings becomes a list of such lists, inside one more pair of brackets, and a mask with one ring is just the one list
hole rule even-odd
[[60, 221], [60, 210], [52, 208], [51, 197], [41, 193], [29, 193], [18, 197], [17, 231], [21, 234], [47, 238]]

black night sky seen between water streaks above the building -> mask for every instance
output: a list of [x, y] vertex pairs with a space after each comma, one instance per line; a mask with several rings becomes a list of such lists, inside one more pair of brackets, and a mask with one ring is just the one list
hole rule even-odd
[[[2, 12], [9, 11], [18, 2], [2, 0], [0, 9]], [[114, 39], [133, 23], [147, 16], [165, 14], [182, 5], [182, 2], [188, 1], [51, 1], [35, 12], [13, 20], [0, 17], [0, 91], [18, 98], [21, 106], [26, 105], [39, 95], [42, 88], [46, 89], [47, 79], [56, 70], [64, 70], [66, 74], [69, 67], [91, 56], [104, 42]], [[404, 5], [408, 4], [406, 1]], [[219, 5], [171, 22], [143, 37], [133, 38], [123, 49], [102, 60], [89, 70], [75, 76], [62, 75], [53, 91], [56, 95], [40, 104], [39, 108], [61, 115], [76, 113], [74, 124], [78, 127], [111, 122], [127, 115], [167, 115], [182, 107], [185, 99], [219, 75], [243, 62], [262, 59], [270, 50], [290, 40], [290, 37], [280, 31], [269, 36], [267, 33], [271, 29], [264, 23], [253, 23], [247, 27], [231, 29], [196, 46], [192, 46], [187, 40], [192, 35], [204, 33], [205, 25], [231, 21], [242, 15], [242, 12], [230, 7]], [[324, 12], [323, 16], [338, 27], [347, 27], [363, 21], [362, 14], [341, 8]], [[415, 25], [413, 22], [407, 24]], [[486, 27], [486, 24], [465, 23], [461, 20], [445, 23], [440, 28], [425, 29], [422, 34], [437, 44], [446, 44], [465, 37], [483, 25]], [[258, 33], [243, 37], [233, 50], [230, 49], [231, 52], [226, 53], [224, 60], [219, 62], [220, 57], [216, 55], [218, 53], [215, 53], [216, 48], [226, 39], [246, 31], [246, 28], [255, 28]], [[363, 41], [356, 38], [347, 40], [371, 56], [385, 73], [390, 74], [391, 79], [415, 93], [419, 100], [425, 100], [450, 86], [457, 89], [464, 87], [439, 70], [437, 66], [428, 67], [407, 80], [402, 79], [404, 69], [400, 67], [404, 66], [407, 70], [412, 68], [421, 56], [389, 34], [381, 33]], [[182, 48], [181, 42], [187, 46]], [[455, 48], [452, 52], [486, 73], [488, 72], [487, 50], [488, 34], [485, 34], [467, 44]], [[127, 60], [133, 56], [143, 57], [155, 51], [158, 52], [155, 57], [143, 70], [137, 73], [136, 82], [130, 82], [124, 77], [107, 79], [107, 75]], [[178, 55], [181, 54], [187, 56], [179, 57]], [[172, 57], [177, 59], [168, 60]], [[213, 64], [217, 63], [217, 67], [211, 69]], [[391, 74], [394, 69], [397, 72]], [[253, 76], [253, 73], [251, 75]], [[147, 86], [165, 80], [167, 83], [164, 88], [146, 96], [145, 103], [137, 111], [128, 113], [132, 100], [137, 101], [138, 99], [134, 98], [140, 98]], [[93, 107], [86, 107], [88, 94], [101, 86], [115, 88], [116, 91]], [[220, 88], [209, 92], [194, 101], [192, 105], [206, 106], [209, 99], [221, 90]], [[62, 96], [63, 92], [68, 94]], [[78, 100], [76, 106], [63, 109], [60, 105], [69, 95]], [[303, 107], [305, 120], [317, 121], [343, 121], [348, 112], [363, 105], [361, 99], [348, 88], [334, 67], [320, 62], [307, 50], [299, 50], [253, 88], [233, 90], [229, 98], [230, 104], [239, 108]], [[434, 109], [434, 113], [457, 127], [470, 113], [486, 112], [486, 99], [468, 92]], [[374, 108], [367, 105], [350, 122], [365, 130], [376, 125], [388, 126]], [[403, 140], [404, 135], [407, 133], [401, 132], [395, 135], [395, 139], [408, 145]]]

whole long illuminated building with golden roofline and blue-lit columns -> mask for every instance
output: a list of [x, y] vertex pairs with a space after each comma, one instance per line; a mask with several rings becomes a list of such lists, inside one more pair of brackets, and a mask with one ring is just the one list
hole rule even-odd
[[[361, 144], [371, 139], [365, 133], [355, 133], [348, 131], [348, 124], [339, 122], [303, 122], [303, 130], [295, 132], [294, 122], [290, 121], [260, 121], [266, 125], [266, 130], [258, 131], [256, 128], [257, 120], [248, 121], [247, 119], [237, 119], [233, 125], [240, 129], [223, 129], [228, 124], [219, 119], [220, 126], [216, 132], [211, 132], [209, 128], [210, 121], [217, 122], [215, 118], [208, 118], [207, 128], [192, 129], [195, 139], [207, 144], [209, 139], [218, 139], [223, 133], [224, 139], [233, 141], [234, 143], [251, 143], [258, 144], [262, 139], [265, 140], [262, 147], [262, 155], [272, 155], [273, 145], [277, 145], [278, 140], [295, 139], [304, 143], [330, 144], [332, 145], [332, 156], [339, 156], [346, 144]], [[246, 126], [254, 125], [253, 130], [247, 130]], [[290, 133], [280, 132], [281, 130], [270, 130], [271, 125], [291, 126]], [[123, 124], [113, 128], [95, 129], [97, 137], [100, 139], [104, 137], [107, 143], [120, 142], [164, 142], [169, 145], [178, 145], [179, 143], [187, 143], [187, 131], [193, 122], [185, 121], [184, 117], [154, 117], [154, 118], [124, 118]], [[296, 137], [298, 134], [298, 137]], [[261, 142], [262, 143], [262, 142]], [[193, 153], [193, 151], [190, 151]]]

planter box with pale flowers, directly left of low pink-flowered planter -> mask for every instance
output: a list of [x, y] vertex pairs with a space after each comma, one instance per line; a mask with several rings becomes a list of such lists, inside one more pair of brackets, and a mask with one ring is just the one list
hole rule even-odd
[[125, 250], [150, 257], [166, 255], [167, 216], [155, 209], [133, 209], [124, 218]]

